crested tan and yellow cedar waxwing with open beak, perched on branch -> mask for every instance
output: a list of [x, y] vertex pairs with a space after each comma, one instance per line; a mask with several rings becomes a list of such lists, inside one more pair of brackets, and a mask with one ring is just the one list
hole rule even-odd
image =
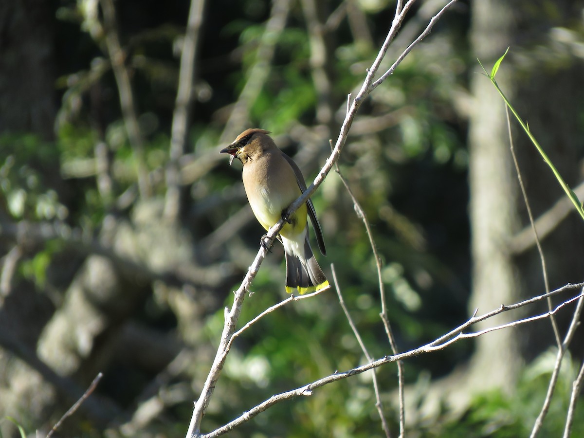
[[[245, 130], [221, 152], [231, 154], [230, 165], [236, 157], [244, 165], [243, 180], [249, 205], [262, 227], [269, 230], [306, 190], [306, 183], [296, 163], [280, 151], [267, 134], [269, 131], [258, 128]], [[279, 239], [286, 254], [287, 293], [297, 289], [302, 295], [329, 284], [310, 248], [307, 213], [317, 235], [318, 247], [326, 255], [321, 225], [308, 199], [280, 230]]]

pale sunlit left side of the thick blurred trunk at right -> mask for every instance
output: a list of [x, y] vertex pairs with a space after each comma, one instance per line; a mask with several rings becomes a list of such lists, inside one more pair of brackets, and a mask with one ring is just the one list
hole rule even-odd
[[[472, 52], [485, 66], [493, 65], [512, 40], [512, 9], [500, 0], [479, 0], [473, 4]], [[516, 81], [509, 64], [502, 65], [497, 81], [513, 100]], [[517, 178], [509, 150], [505, 104], [482, 75], [472, 75], [471, 94], [474, 105], [468, 134], [472, 253], [469, 308], [471, 314], [475, 309], [482, 314], [503, 303], [514, 303], [520, 296], [517, 267], [506, 246], [519, 224]], [[475, 328], [506, 320], [506, 315], [500, 315]], [[512, 388], [521, 361], [515, 332], [505, 330], [481, 336], [470, 362], [468, 387], [473, 391]]]

